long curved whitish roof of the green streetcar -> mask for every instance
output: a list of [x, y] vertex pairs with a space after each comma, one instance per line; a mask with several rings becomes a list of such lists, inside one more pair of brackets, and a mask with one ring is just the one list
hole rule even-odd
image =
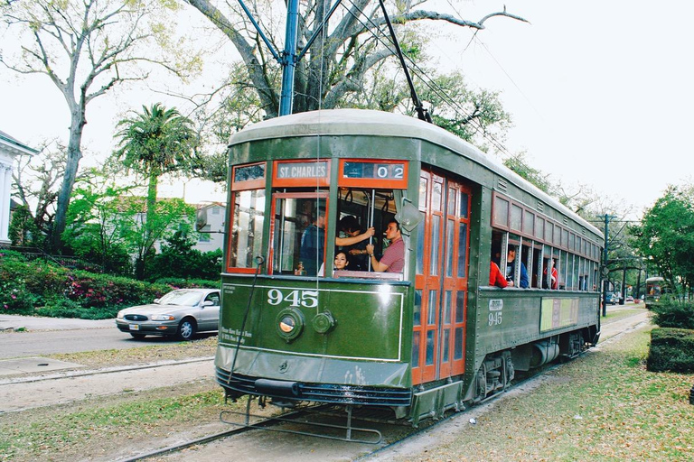
[[[443, 128], [427, 124], [408, 115], [394, 114], [369, 109], [324, 109], [292, 115], [283, 115], [250, 125], [236, 134], [232, 134], [229, 145], [265, 140], [269, 138], [293, 138], [296, 136], [317, 135], [364, 135], [394, 136], [416, 138], [440, 145], [452, 152], [477, 162], [506, 180], [510, 180], [520, 189], [542, 199], [549, 206], [571, 217], [586, 226], [590, 231], [601, 236], [596, 226], [588, 223], [557, 199], [552, 198], [530, 181], [521, 178], [492, 155], [485, 154], [473, 144], [445, 131]], [[426, 162], [426, 160], [425, 160]]]

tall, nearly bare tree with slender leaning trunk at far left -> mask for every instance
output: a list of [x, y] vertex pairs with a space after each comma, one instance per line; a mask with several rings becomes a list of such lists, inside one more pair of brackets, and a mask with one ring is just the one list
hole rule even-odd
[[[70, 110], [67, 160], [51, 233], [52, 248], [58, 250], [89, 103], [119, 83], [145, 79], [141, 64], [159, 63], [180, 72], [190, 69], [195, 57], [181, 60], [169, 52], [180, 44], [169, 40], [167, 24], [172, 22], [164, 15], [175, 4], [165, 0], [33, 0], [4, 2], [0, 9], [5, 26], [22, 44], [21, 56], [2, 52], [0, 62], [15, 72], [51, 79]], [[154, 50], [160, 51], [157, 58], [150, 56]]]

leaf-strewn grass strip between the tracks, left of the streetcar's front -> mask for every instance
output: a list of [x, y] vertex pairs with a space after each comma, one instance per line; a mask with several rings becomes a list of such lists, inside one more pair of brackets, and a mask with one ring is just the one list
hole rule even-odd
[[118, 448], [136, 448], [141, 440], [165, 439], [188, 429], [192, 421], [199, 421], [196, 430], [202, 430], [229, 409], [219, 385], [210, 380], [51, 411], [0, 415], [0, 460], [91, 459]]

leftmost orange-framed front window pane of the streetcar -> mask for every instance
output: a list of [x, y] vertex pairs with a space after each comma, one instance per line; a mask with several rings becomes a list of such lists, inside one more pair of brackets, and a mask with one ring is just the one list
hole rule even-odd
[[231, 195], [229, 268], [254, 268], [254, 257], [264, 254], [265, 189], [249, 189]]

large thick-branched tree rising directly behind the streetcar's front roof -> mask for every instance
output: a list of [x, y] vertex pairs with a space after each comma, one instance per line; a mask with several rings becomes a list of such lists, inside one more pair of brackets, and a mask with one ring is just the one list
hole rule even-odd
[[[248, 73], [247, 85], [255, 88], [258, 94], [259, 106], [262, 107], [267, 118], [277, 116], [278, 65], [272, 60], [267, 46], [258, 32], [250, 27], [249, 21], [240, 9], [230, 6], [229, 10], [222, 12], [213, 5], [211, 0], [185, 1], [207, 17], [230, 39], [239, 51]], [[424, 33], [412, 32], [415, 28], [410, 27], [417, 21], [442, 21], [476, 30], [482, 30], [485, 27], [484, 23], [496, 16], [525, 21], [519, 16], [506, 13], [505, 9], [503, 12], [488, 14], [479, 22], [466, 21], [435, 11], [413, 9], [413, 6], [423, 3], [396, 2], [394, 8], [391, 7], [391, 21], [399, 31], [403, 32], [403, 35], [407, 35], [401, 42], [403, 50], [410, 56], [417, 56], [417, 53], [420, 53], [424, 41]], [[261, 11], [258, 9], [260, 6], [267, 6], [267, 9]], [[276, 37], [284, 35], [272, 27], [267, 27], [263, 20], [263, 17], [271, 17], [273, 8], [280, 6], [254, 3], [251, 7], [253, 8], [251, 13], [264, 28], [272, 47], [276, 50], [280, 49], [277, 46]], [[298, 19], [298, 37], [300, 43], [307, 43], [313, 33], [319, 30], [327, 16], [327, 4], [323, 1], [308, 0], [302, 3], [301, 10]], [[295, 113], [319, 107], [330, 109], [360, 106], [363, 101], [362, 96], [370, 94], [370, 89], [374, 85], [377, 87], [380, 85], [379, 79], [383, 76], [381, 70], [394, 56], [394, 47], [386, 44], [389, 39], [383, 40], [383, 33], [378, 31], [385, 24], [378, 2], [357, 0], [352, 2], [351, 6], [342, 4], [341, 8], [333, 14], [332, 23], [328, 30], [324, 30], [324, 36], [313, 42], [305, 54], [305, 59], [296, 63], [293, 107]], [[395, 107], [405, 97], [409, 97], [409, 92], [396, 91], [391, 96], [394, 100], [386, 106]], [[459, 118], [457, 122], [470, 123], [482, 116], [481, 114], [472, 115], [472, 119], [467, 122]]]

